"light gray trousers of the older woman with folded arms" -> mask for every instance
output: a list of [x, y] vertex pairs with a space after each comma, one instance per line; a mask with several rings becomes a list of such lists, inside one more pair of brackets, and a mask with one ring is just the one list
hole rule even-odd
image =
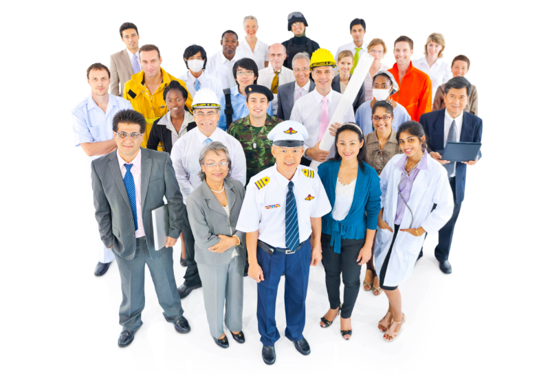
[[243, 330], [244, 258], [235, 256], [226, 265], [197, 263], [202, 281], [204, 307], [210, 335], [223, 335], [223, 309], [225, 326], [230, 331]]

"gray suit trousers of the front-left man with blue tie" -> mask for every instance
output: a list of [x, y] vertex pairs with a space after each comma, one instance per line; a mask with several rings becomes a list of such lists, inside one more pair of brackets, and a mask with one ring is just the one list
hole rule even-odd
[[122, 331], [136, 331], [142, 326], [142, 311], [145, 307], [144, 278], [145, 264], [149, 267], [159, 304], [164, 310], [166, 322], [173, 323], [184, 313], [177, 293], [174, 278], [172, 251], [164, 252], [159, 258], [151, 258], [145, 236], [135, 241], [135, 256], [132, 260], [115, 254], [120, 281], [122, 303], [118, 311]]

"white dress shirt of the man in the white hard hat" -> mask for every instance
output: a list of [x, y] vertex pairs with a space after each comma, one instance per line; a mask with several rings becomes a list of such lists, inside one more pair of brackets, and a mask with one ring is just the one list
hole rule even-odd
[[[199, 156], [202, 148], [206, 146], [205, 141], [207, 138], [197, 126], [179, 138], [172, 147], [170, 157], [172, 158], [179, 190], [184, 195], [184, 203], [186, 203], [189, 194], [202, 184], [199, 177], [199, 173], [201, 172]], [[210, 140], [212, 142], [221, 142], [228, 148], [232, 165], [229, 177], [239, 180], [245, 185], [246, 159], [241, 142], [218, 128], [210, 135]]]

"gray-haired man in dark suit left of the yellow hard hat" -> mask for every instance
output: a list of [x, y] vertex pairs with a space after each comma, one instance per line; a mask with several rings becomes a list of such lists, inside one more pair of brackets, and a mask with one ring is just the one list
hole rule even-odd
[[296, 81], [281, 85], [277, 91], [277, 118], [288, 121], [298, 98], [315, 89], [315, 83], [309, 78], [309, 55], [299, 52], [292, 58], [292, 72]]

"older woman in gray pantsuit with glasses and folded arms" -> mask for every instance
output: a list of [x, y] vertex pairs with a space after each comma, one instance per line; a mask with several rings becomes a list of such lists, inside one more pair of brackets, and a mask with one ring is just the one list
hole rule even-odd
[[243, 329], [243, 278], [245, 234], [235, 230], [245, 188], [228, 178], [231, 158], [221, 142], [201, 151], [203, 181], [187, 198], [187, 214], [195, 235], [195, 260], [201, 276], [204, 307], [214, 342], [228, 348], [225, 326], [236, 342], [245, 342]]

